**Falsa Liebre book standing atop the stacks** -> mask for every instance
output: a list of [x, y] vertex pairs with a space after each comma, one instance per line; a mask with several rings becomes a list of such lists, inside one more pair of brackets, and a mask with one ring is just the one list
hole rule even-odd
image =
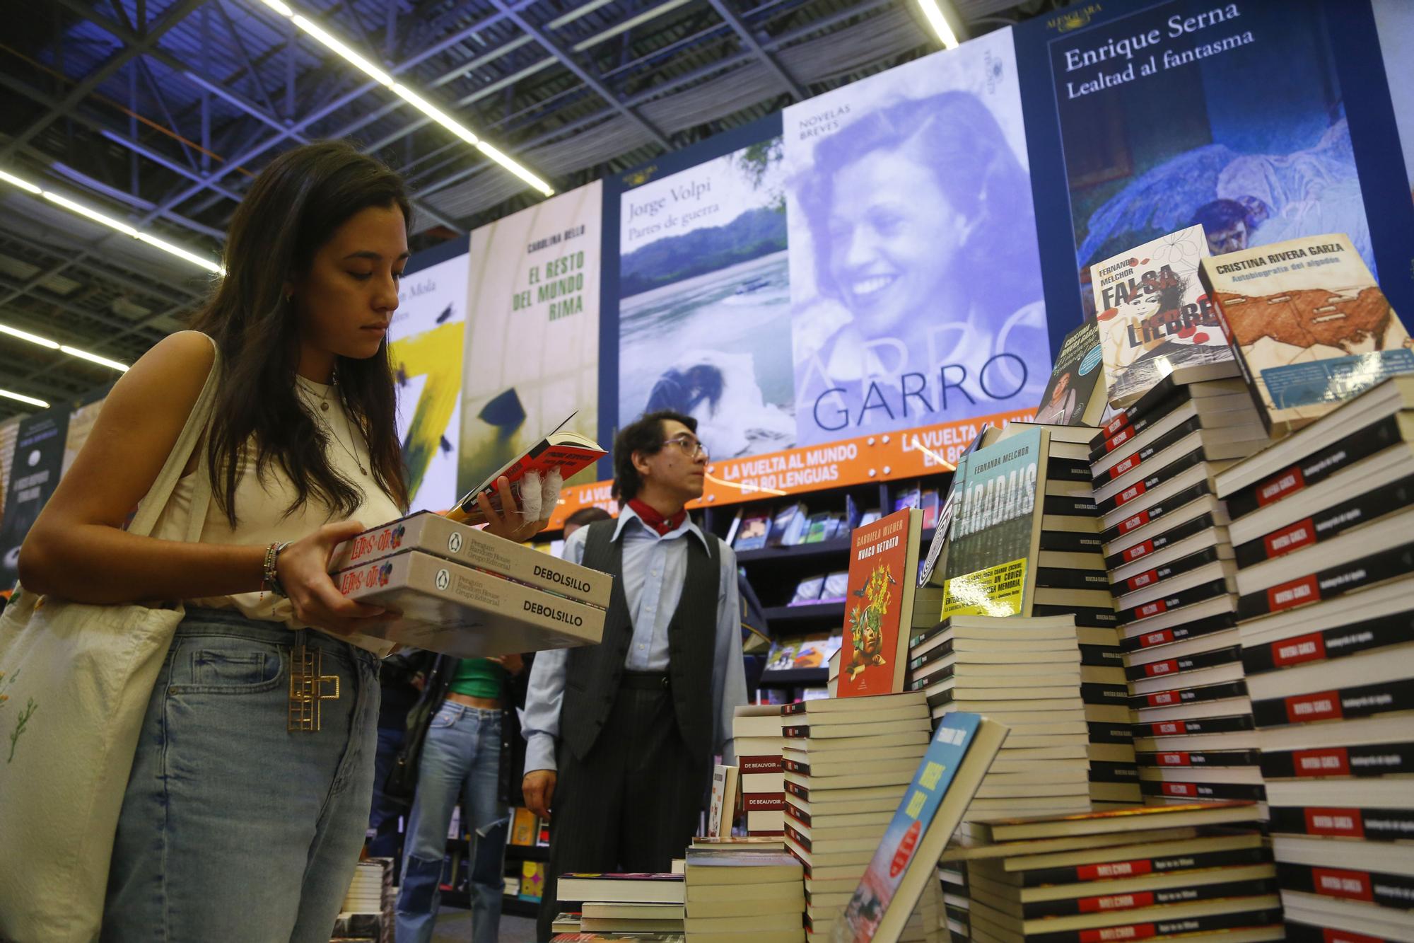
[[1232, 360], [1198, 279], [1200, 225], [1090, 266], [1110, 404], [1123, 409], [1179, 367]]

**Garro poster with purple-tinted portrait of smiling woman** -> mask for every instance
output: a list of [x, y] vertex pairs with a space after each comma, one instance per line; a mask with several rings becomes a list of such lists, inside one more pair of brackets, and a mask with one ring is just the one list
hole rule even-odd
[[799, 445], [1035, 405], [1051, 357], [1011, 30], [783, 118]]

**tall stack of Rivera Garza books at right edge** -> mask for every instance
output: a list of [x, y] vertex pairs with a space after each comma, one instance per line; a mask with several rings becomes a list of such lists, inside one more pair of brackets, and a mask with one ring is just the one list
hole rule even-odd
[[1414, 377], [1217, 476], [1292, 939], [1414, 939]]

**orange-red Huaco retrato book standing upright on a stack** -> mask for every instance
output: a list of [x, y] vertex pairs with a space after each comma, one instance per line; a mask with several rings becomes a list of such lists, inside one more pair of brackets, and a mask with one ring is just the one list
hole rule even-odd
[[904, 508], [850, 534], [837, 697], [904, 690], [922, 522], [922, 511]]

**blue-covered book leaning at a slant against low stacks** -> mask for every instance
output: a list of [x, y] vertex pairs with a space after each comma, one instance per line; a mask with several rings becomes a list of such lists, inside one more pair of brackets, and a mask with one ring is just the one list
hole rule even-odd
[[1005, 739], [1005, 726], [977, 714], [943, 718], [864, 878], [831, 927], [831, 943], [899, 937]]

